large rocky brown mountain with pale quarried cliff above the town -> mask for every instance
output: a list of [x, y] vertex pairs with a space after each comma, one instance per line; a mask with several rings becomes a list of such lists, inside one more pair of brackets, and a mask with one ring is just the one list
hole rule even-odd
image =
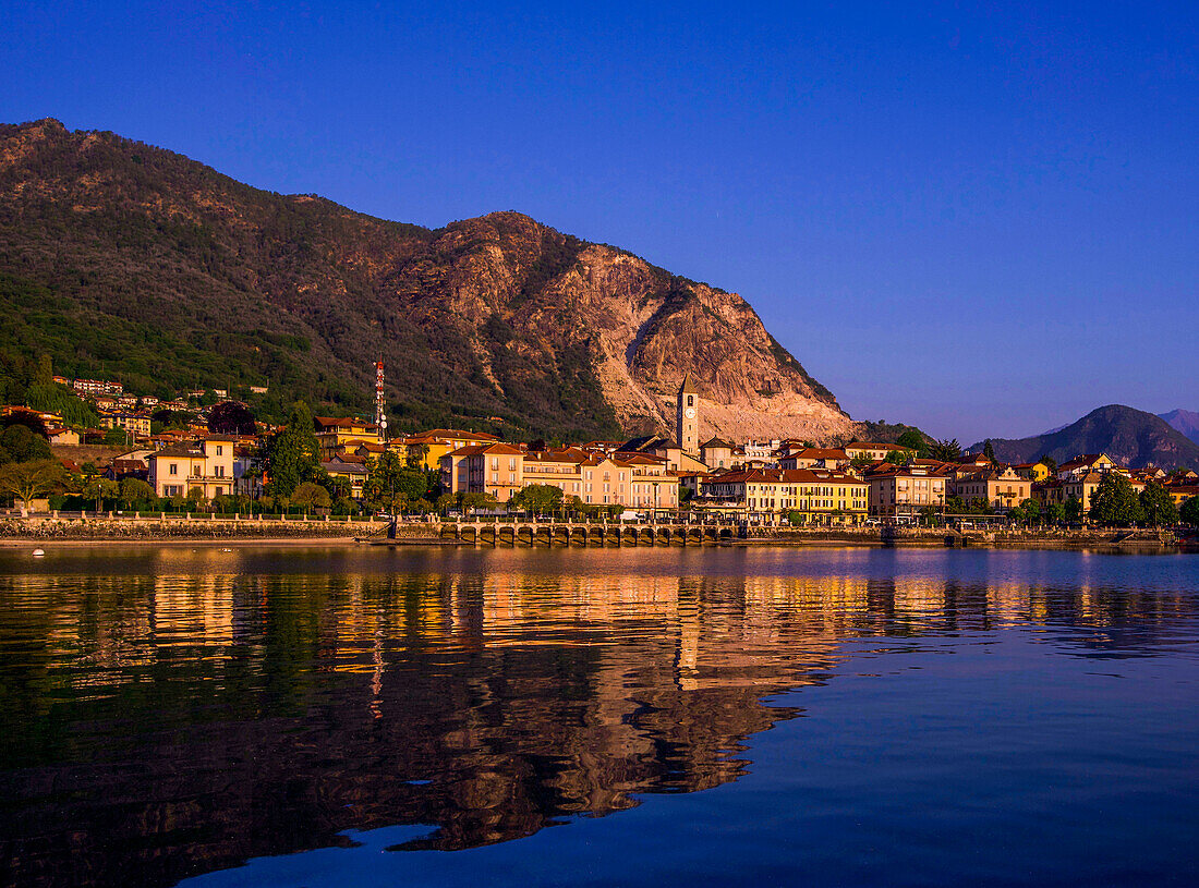
[[55, 120], [0, 126], [0, 350], [169, 394], [269, 386], [398, 428], [611, 437], [857, 427], [736, 294], [517, 212], [426, 229]]

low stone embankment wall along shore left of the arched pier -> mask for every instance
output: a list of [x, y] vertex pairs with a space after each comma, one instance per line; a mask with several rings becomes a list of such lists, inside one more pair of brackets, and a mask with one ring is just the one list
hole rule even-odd
[[[162, 540], [173, 539], [295, 539], [323, 540], [379, 538], [387, 532], [386, 521], [345, 521], [342, 519], [263, 518], [171, 515], [169, 518], [120, 517], [30, 517], [0, 518], [0, 540]], [[436, 534], [436, 528], [424, 524], [402, 524], [400, 539], [422, 539]]]

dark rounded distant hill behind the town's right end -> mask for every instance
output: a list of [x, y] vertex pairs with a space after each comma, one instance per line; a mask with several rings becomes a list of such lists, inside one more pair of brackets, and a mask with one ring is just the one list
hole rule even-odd
[[[983, 443], [969, 449], [977, 453]], [[1199, 443], [1158, 416], [1119, 404], [1092, 410], [1060, 431], [1017, 440], [993, 437], [990, 443], [1002, 463], [1031, 463], [1041, 457], [1065, 463], [1083, 453], [1107, 453], [1132, 469], [1199, 467]]]

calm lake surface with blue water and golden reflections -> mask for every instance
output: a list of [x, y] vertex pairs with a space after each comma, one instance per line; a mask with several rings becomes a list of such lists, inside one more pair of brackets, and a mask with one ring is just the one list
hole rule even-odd
[[0, 551], [0, 883], [1199, 884], [1199, 556]]

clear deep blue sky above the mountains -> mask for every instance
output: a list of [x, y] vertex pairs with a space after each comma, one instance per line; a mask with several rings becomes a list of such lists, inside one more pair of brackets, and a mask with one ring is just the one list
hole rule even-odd
[[1199, 410], [1199, 4], [5, 4], [55, 116], [742, 294], [855, 417]]

